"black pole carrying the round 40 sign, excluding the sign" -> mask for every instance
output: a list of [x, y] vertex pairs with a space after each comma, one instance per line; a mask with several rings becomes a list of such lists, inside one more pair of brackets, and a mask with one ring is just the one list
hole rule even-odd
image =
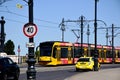
[[[28, 1], [28, 6], [29, 6], [29, 23], [33, 23], [33, 0]], [[33, 43], [33, 42], [34, 42], [34, 36], [29, 38], [29, 43]], [[27, 80], [36, 80], [36, 70], [35, 70], [36, 60], [34, 59], [34, 47], [28, 47], [27, 63], [28, 63]]]

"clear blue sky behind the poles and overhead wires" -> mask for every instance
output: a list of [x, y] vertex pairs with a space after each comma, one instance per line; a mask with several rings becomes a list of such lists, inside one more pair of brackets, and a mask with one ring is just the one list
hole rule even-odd
[[[38, 26], [38, 32], [34, 37], [35, 46], [40, 42], [50, 40], [62, 40], [61, 30], [58, 27], [62, 21], [78, 20], [81, 15], [85, 20], [94, 20], [94, 0], [33, 0], [34, 1], [34, 23]], [[21, 9], [16, 5], [21, 4]], [[103, 20], [107, 27], [112, 24], [120, 27], [120, 0], [99, 0], [97, 8], [97, 19]], [[18, 45], [21, 47], [21, 55], [28, 53], [26, 43], [29, 42], [28, 37], [23, 34], [23, 26], [28, 22], [28, 6], [23, 0], [11, 0], [0, 5], [0, 17], [5, 18], [6, 41], [12, 40], [15, 44], [15, 52], [17, 54]], [[71, 29], [80, 29], [79, 23], [65, 23], [65, 41], [75, 42], [76, 36]], [[94, 43], [94, 25], [90, 25], [90, 43]], [[98, 27], [105, 27], [102, 22], [98, 22]], [[84, 43], [87, 43], [87, 25], [84, 25]], [[115, 29], [115, 34], [119, 33], [119, 29]], [[97, 42], [105, 45], [106, 30], [99, 29]], [[111, 35], [111, 29], [109, 29]], [[111, 40], [111, 38], [110, 38]], [[80, 42], [80, 39], [79, 39]], [[115, 46], [120, 46], [120, 35], [115, 37]]]

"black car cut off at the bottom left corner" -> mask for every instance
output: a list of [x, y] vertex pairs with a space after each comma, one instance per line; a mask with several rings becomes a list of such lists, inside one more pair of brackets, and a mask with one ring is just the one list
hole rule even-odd
[[19, 66], [8, 57], [0, 57], [0, 80], [18, 80]]

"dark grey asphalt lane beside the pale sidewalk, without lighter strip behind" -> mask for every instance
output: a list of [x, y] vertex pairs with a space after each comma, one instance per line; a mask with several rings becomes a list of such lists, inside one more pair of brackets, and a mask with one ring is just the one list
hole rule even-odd
[[[78, 72], [75, 72], [74, 70], [37, 72], [36, 80], [64, 80], [65, 78], [77, 73]], [[26, 74], [21, 74], [19, 80], [26, 80]]]

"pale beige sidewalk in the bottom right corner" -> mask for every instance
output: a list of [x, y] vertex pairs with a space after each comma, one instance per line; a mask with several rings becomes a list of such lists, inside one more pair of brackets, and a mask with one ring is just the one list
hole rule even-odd
[[120, 80], [120, 68], [78, 73], [65, 80]]

